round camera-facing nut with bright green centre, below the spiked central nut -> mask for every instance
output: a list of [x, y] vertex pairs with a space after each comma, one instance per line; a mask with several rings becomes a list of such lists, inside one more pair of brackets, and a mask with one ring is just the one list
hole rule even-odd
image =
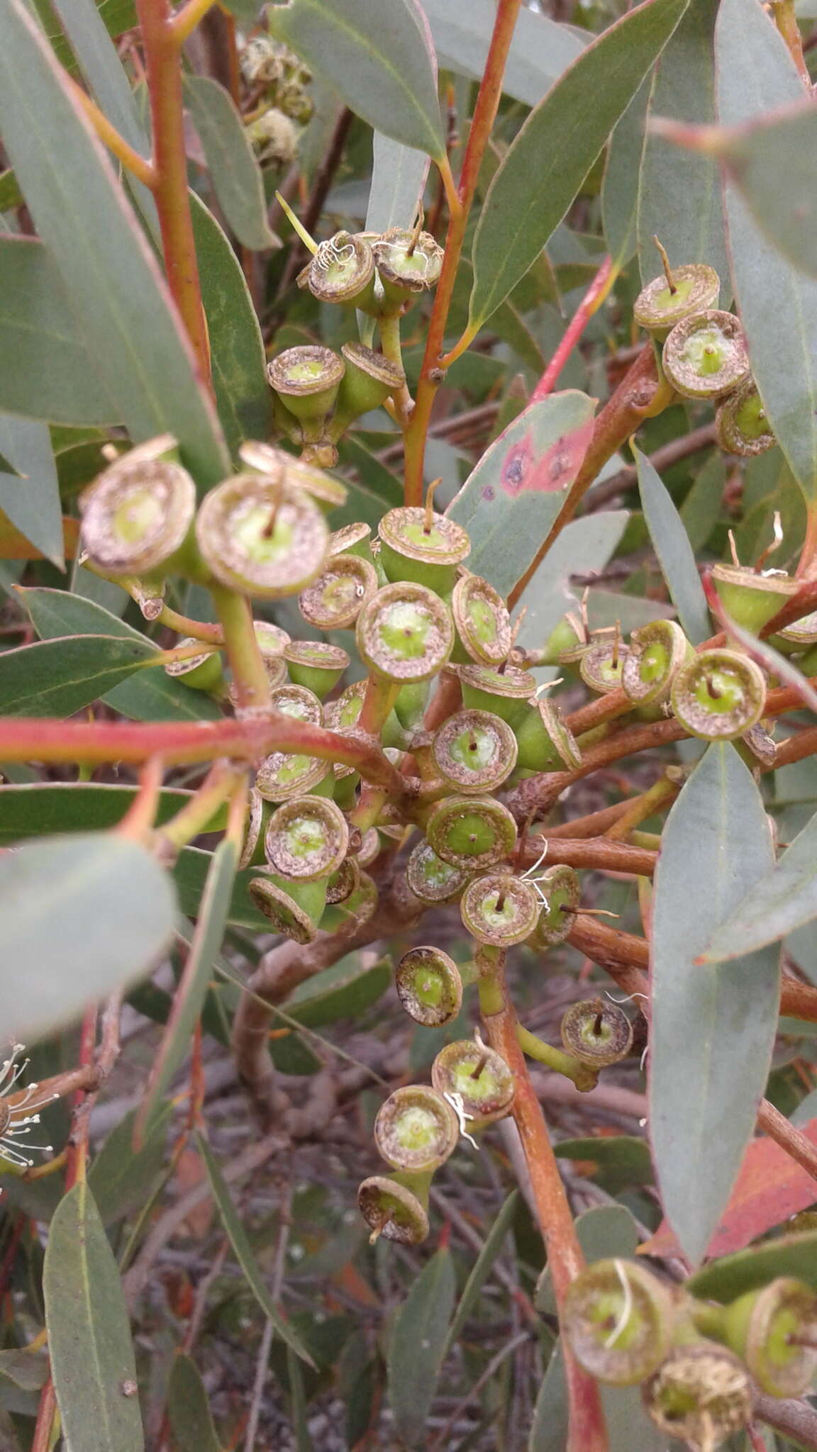
[[451, 655], [454, 623], [448, 605], [423, 585], [385, 585], [356, 624], [361, 659], [390, 681], [426, 681]]

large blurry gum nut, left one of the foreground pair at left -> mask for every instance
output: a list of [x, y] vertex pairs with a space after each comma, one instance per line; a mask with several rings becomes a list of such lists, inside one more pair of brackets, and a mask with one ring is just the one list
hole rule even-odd
[[151, 439], [108, 466], [80, 495], [87, 559], [105, 575], [176, 571], [202, 578], [195, 547], [196, 486], [172, 456], [172, 434]]

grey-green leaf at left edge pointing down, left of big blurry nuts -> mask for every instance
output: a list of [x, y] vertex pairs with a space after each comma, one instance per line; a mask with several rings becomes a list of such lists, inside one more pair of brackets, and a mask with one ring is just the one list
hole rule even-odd
[[0, 452], [16, 469], [0, 473], [0, 510], [63, 569], [63, 505], [48, 425], [0, 414]]

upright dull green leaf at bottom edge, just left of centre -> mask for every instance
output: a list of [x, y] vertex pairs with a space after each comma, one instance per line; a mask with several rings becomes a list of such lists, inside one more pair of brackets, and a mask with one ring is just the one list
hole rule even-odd
[[394, 1318], [388, 1349], [388, 1400], [400, 1436], [426, 1446], [429, 1407], [448, 1340], [456, 1279], [448, 1247], [423, 1268]]

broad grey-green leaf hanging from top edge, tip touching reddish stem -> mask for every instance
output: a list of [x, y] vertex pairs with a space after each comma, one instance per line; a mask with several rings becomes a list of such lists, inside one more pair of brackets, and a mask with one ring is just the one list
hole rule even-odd
[[413, 0], [289, 0], [273, 35], [324, 76], [375, 131], [445, 157], [433, 58]]

